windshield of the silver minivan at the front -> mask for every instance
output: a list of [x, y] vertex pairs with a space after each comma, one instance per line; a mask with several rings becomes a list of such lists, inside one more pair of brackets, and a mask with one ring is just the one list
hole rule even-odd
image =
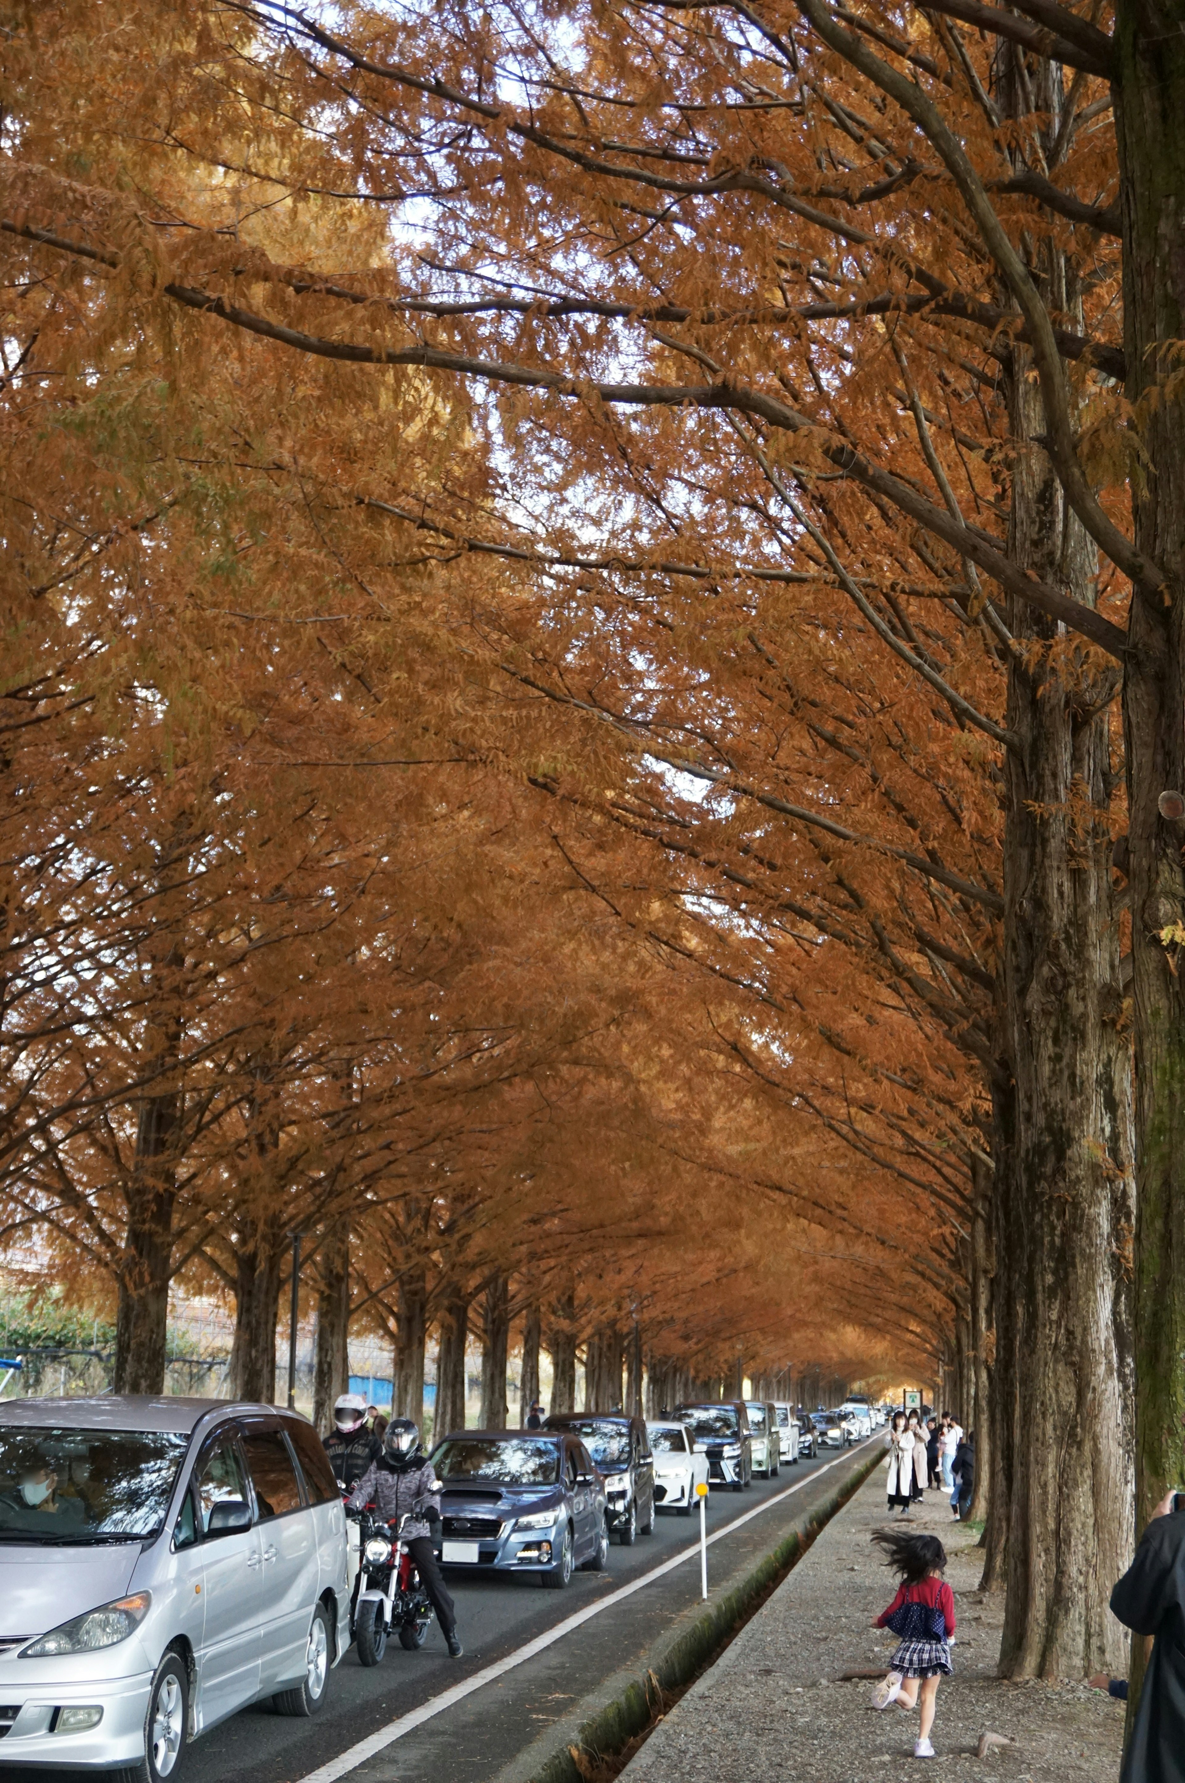
[[0, 1425], [0, 1541], [61, 1546], [155, 1535], [187, 1448], [176, 1430]]

